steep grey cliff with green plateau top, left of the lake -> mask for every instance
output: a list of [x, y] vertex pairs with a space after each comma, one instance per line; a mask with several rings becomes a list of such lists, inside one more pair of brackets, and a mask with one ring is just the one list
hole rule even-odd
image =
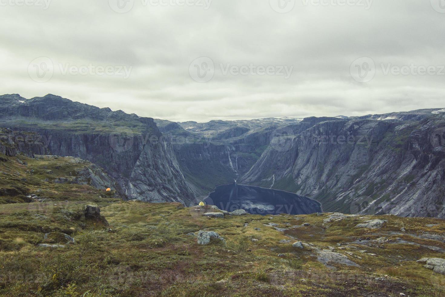
[[188, 203], [194, 196], [173, 146], [151, 118], [111, 111], [54, 95], [0, 96], [0, 126], [35, 131], [53, 155], [105, 168], [128, 199]]

